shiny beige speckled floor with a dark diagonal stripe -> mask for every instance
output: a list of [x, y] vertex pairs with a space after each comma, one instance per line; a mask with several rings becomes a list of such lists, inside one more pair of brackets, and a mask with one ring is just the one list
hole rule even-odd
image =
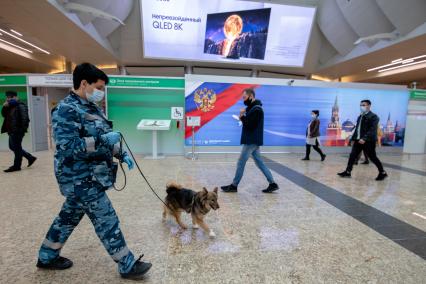
[[[74, 267], [36, 269], [39, 245], [63, 201], [52, 153], [37, 156], [32, 168], [0, 173], [0, 282], [127, 282], [86, 217], [62, 251]], [[221, 208], [207, 217], [216, 239], [179, 230], [174, 221], [163, 224], [160, 201], [135, 170], [128, 188], [109, 191], [129, 247], [153, 263], [144, 283], [426, 283], [421, 217], [426, 216], [426, 155], [381, 155], [393, 165], [383, 182], [374, 180], [373, 165], [356, 166], [352, 179], [338, 178], [346, 163], [341, 154], [324, 163], [314, 155], [310, 162], [293, 154], [267, 158], [281, 189], [263, 194], [266, 181], [250, 162], [239, 192], [219, 193]], [[170, 180], [196, 190], [230, 183], [236, 159], [138, 161], [164, 196]], [[1, 168], [10, 160], [10, 153], [0, 153]], [[184, 220], [190, 224], [189, 216]]]

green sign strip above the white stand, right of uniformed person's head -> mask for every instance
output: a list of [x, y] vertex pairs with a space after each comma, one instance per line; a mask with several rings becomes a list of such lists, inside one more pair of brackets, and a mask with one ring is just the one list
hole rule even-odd
[[109, 88], [162, 88], [184, 89], [185, 80], [176, 78], [109, 77]]

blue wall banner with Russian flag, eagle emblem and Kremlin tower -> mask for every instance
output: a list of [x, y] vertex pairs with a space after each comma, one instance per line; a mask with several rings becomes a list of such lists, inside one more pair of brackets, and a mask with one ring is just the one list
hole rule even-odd
[[[185, 90], [186, 116], [201, 116], [195, 128], [198, 146], [240, 145], [238, 114], [245, 107], [241, 93], [253, 88], [265, 113], [265, 146], [303, 146], [311, 110], [320, 111], [321, 144], [347, 146], [363, 99], [372, 102], [380, 117], [378, 144], [402, 146], [409, 93], [406, 90], [294, 87], [235, 83], [193, 82]], [[185, 143], [191, 145], [192, 129], [186, 127]]]

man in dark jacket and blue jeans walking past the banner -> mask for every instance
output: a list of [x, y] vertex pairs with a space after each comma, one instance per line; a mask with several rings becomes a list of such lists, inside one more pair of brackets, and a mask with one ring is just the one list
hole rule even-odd
[[256, 166], [262, 171], [269, 182], [269, 186], [262, 190], [264, 193], [276, 191], [279, 187], [272, 177], [271, 171], [265, 166], [260, 155], [259, 146], [263, 145], [263, 121], [264, 114], [262, 102], [256, 100], [253, 89], [245, 89], [243, 92], [244, 104], [247, 106], [240, 111], [240, 120], [243, 123], [241, 144], [243, 149], [237, 163], [237, 171], [230, 185], [222, 186], [224, 192], [237, 192], [238, 184], [244, 174], [244, 168], [250, 155]]

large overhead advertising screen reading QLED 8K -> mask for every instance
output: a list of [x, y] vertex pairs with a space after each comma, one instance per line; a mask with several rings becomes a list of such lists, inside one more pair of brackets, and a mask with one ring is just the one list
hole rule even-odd
[[144, 0], [147, 58], [302, 67], [313, 7], [235, 0]]

